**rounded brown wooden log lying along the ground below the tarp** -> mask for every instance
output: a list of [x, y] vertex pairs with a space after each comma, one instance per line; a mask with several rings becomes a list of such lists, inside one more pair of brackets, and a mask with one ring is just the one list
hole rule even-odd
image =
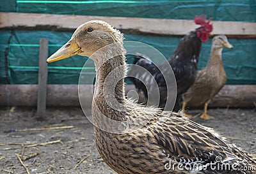
[[[88, 107], [92, 85], [83, 85]], [[47, 106], [80, 106], [77, 85], [47, 85]], [[126, 85], [125, 92], [134, 89]], [[36, 106], [38, 85], [0, 85], [0, 106]], [[225, 85], [209, 105], [212, 108], [255, 108], [256, 85]]]

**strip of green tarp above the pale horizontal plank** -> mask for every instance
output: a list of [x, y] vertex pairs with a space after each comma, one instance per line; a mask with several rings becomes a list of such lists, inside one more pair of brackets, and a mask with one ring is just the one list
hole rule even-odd
[[193, 19], [195, 14], [207, 14], [213, 20], [255, 22], [253, 0], [180, 0], [180, 1], [22, 1], [17, 11], [23, 13], [55, 13], [99, 15], [112, 17], [145, 17]]

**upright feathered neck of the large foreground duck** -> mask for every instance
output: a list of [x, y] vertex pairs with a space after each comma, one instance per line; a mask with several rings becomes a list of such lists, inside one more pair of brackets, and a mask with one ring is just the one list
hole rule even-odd
[[96, 82], [93, 107], [97, 108], [97, 114], [103, 113], [109, 119], [125, 120], [125, 116], [119, 114], [118, 110], [124, 107], [125, 103], [124, 77], [127, 64], [125, 63], [124, 47], [119, 45], [109, 49], [104, 52], [104, 55], [97, 55], [97, 59], [94, 61]]

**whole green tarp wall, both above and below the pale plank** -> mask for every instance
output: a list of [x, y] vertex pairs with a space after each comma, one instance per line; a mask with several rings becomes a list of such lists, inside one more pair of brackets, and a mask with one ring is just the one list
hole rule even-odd
[[[256, 22], [255, 1], [1, 1], [1, 11], [119, 17], [184, 18], [205, 14], [213, 20]], [[40, 38], [49, 38], [49, 54], [66, 43], [72, 33], [0, 30], [0, 83], [37, 83]], [[181, 37], [125, 34], [168, 59]], [[256, 84], [256, 40], [229, 39], [234, 49], [223, 50], [229, 84]], [[211, 40], [203, 43], [199, 68], [207, 64]], [[138, 50], [140, 52], [140, 50]], [[86, 57], [75, 56], [49, 64], [48, 83], [77, 84]], [[128, 62], [132, 59], [127, 58]], [[92, 71], [91, 73], [93, 73]], [[88, 82], [89, 83], [89, 82]]]

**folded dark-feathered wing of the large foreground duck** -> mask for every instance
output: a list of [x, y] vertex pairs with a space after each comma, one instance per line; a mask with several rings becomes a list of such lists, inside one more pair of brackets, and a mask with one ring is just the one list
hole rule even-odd
[[[163, 113], [164, 114], [164, 113]], [[179, 163], [211, 163], [237, 159], [221, 136], [180, 115], [162, 115], [147, 127], [164, 154]], [[219, 161], [220, 162], [220, 161]]]

